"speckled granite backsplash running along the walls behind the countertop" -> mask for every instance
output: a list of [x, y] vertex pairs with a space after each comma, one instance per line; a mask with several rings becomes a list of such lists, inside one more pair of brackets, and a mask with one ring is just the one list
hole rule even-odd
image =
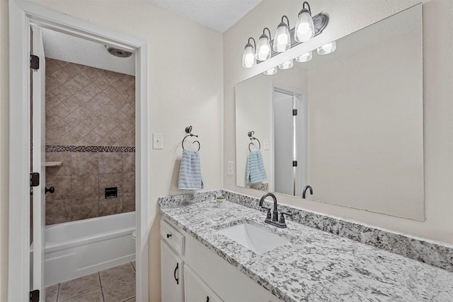
[[[259, 198], [226, 190], [161, 197], [159, 203], [161, 207], [178, 207], [183, 204], [214, 199], [219, 194], [223, 194], [229, 202], [241, 204], [244, 207], [258, 211], [265, 211], [258, 206]], [[270, 202], [266, 201], [266, 203], [269, 207]], [[317, 228], [321, 231], [372, 245], [375, 248], [394, 252], [395, 254], [453, 272], [453, 245], [436, 243], [430, 240], [424, 240], [423, 238], [413, 238], [400, 233], [384, 231], [352, 221], [345, 221], [333, 216], [295, 209], [287, 205], [281, 204], [278, 207], [280, 210], [290, 214], [287, 216], [288, 220], [301, 223], [304, 226]]]

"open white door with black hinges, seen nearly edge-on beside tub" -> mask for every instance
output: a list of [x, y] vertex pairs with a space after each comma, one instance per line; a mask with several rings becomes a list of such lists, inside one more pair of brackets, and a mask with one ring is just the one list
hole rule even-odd
[[45, 301], [45, 57], [40, 28], [32, 26], [32, 54], [39, 57], [39, 69], [32, 73], [31, 136], [33, 141], [32, 172], [40, 173], [40, 185], [33, 187], [33, 274], [30, 290], [40, 291]]

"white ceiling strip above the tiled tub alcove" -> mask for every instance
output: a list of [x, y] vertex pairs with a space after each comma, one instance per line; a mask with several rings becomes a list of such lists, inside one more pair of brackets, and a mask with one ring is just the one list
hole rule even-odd
[[135, 75], [135, 54], [115, 57], [105, 45], [42, 28], [45, 57]]

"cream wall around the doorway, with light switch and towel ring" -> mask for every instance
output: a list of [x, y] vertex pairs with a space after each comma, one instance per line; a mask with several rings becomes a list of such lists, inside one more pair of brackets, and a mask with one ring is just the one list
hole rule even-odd
[[[1, 1], [1, 23], [7, 21]], [[120, 30], [148, 41], [149, 78], [149, 297], [160, 300], [160, 243], [158, 197], [182, 193], [177, 189], [180, 143], [185, 127], [192, 125], [201, 143], [201, 165], [205, 190], [222, 187], [222, 142], [223, 142], [223, 66], [222, 34], [202, 25], [176, 16], [151, 4], [150, 1], [36, 1], [55, 11], [85, 21]], [[4, 207], [8, 198], [8, 169], [4, 168], [4, 152], [8, 145], [4, 137], [8, 133], [7, 81], [8, 47], [7, 26], [2, 26], [2, 82], [1, 82], [1, 223], [2, 223], [2, 269], [1, 288], [6, 289], [6, 269], [3, 269]], [[5, 33], [5, 34], [4, 34]], [[7, 87], [8, 83], [5, 83]], [[164, 150], [151, 149], [152, 133], [164, 134]], [[156, 219], [157, 218], [157, 219]], [[1, 301], [4, 301], [3, 297]]]

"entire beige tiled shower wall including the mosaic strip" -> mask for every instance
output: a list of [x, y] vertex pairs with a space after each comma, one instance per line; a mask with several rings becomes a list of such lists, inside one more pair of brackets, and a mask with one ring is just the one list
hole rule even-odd
[[[134, 146], [134, 76], [46, 59], [47, 146]], [[110, 151], [110, 150], [108, 150]], [[135, 210], [134, 152], [47, 152], [46, 225]], [[118, 197], [105, 199], [105, 188]]]

